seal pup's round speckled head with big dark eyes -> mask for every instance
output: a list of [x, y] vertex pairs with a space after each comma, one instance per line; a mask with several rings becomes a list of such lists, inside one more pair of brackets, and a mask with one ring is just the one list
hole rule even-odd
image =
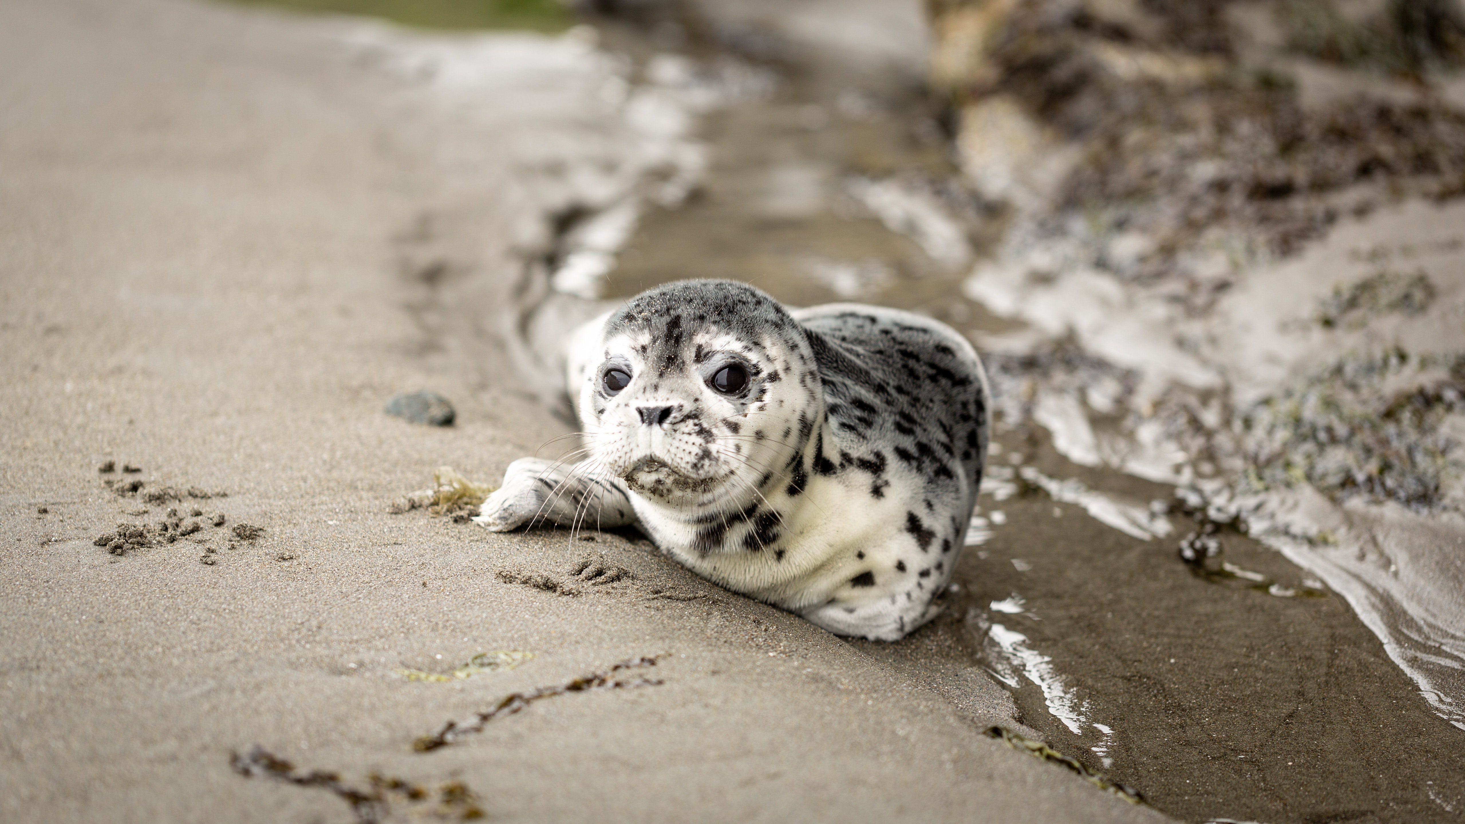
[[590, 460], [687, 520], [787, 483], [823, 420], [803, 328], [750, 285], [645, 291], [605, 322], [599, 348], [579, 398]]

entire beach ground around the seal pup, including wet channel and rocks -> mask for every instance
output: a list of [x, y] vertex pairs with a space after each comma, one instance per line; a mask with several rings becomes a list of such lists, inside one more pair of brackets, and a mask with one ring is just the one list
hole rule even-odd
[[[0, 0], [0, 820], [1458, 820], [1452, 1]], [[904, 641], [404, 511], [686, 277], [982, 353]]]

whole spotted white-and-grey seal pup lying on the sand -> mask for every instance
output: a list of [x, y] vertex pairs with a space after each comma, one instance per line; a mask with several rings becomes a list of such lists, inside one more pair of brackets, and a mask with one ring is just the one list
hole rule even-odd
[[986, 375], [954, 329], [697, 280], [586, 323], [567, 354], [589, 457], [514, 461], [478, 523], [636, 524], [838, 635], [895, 641], [935, 616], [987, 452]]

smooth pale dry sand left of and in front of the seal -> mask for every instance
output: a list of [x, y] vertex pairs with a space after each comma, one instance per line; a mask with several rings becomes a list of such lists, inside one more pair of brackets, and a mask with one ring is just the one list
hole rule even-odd
[[[568, 114], [461, 117], [334, 32], [166, 0], [0, 3], [0, 818], [352, 820], [230, 770], [259, 744], [356, 784], [461, 780], [495, 820], [1162, 820], [986, 738], [1012, 704], [980, 670], [895, 669], [626, 536], [388, 515], [440, 464], [491, 479], [563, 430], [495, 323], [526, 221], [560, 196], [516, 146]], [[404, 277], [440, 252], [447, 284]], [[444, 300], [482, 322], [442, 321]], [[381, 413], [418, 388], [457, 426]], [[98, 474], [108, 460], [144, 471]], [[149, 505], [104, 477], [227, 498]], [[195, 505], [226, 525], [92, 543]], [[242, 523], [264, 536], [234, 539]], [[633, 578], [579, 581], [586, 555]], [[396, 672], [488, 650], [538, 657]], [[639, 656], [659, 659], [627, 678], [659, 685], [412, 751]]]

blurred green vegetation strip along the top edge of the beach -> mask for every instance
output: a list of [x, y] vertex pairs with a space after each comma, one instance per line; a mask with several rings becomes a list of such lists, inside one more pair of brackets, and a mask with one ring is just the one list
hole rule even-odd
[[558, 32], [573, 18], [558, 0], [230, 0], [299, 12], [384, 18], [431, 29], [530, 29]]

